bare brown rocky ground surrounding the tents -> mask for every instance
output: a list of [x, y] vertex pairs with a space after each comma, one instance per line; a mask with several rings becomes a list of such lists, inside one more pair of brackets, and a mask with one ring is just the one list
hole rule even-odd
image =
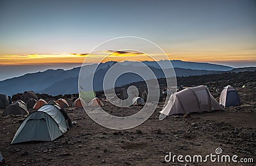
[[[228, 82], [236, 80], [232, 85], [237, 87], [241, 96], [242, 105], [239, 107], [192, 114], [186, 118], [169, 116], [159, 121], [159, 111], [163, 107], [163, 103], [159, 103], [159, 107], [145, 123], [129, 130], [104, 128], [90, 119], [84, 110], [66, 109], [72, 121], [77, 123], [62, 137], [52, 142], [10, 145], [24, 117], [0, 116], [0, 151], [6, 160], [5, 165], [253, 165], [164, 161], [164, 156], [169, 152], [172, 155], [205, 156], [210, 153], [215, 155], [216, 148], [220, 147], [222, 155], [253, 158], [255, 163], [256, 81], [255, 77], [252, 79], [252, 75], [255, 76], [255, 72], [234, 73], [228, 79]], [[208, 77], [212, 79], [208, 81]], [[186, 82], [186, 79], [190, 84], [195, 77], [183, 77], [178, 82]], [[225, 86], [225, 79], [227, 80], [227, 75], [219, 80], [215, 80], [214, 76], [198, 76], [191, 84], [207, 84], [218, 100], [220, 91], [216, 91], [216, 87]], [[246, 87], [242, 88], [243, 84]], [[140, 106], [133, 106], [124, 113], [124, 109], [116, 109], [113, 105], [104, 103], [103, 109], [113, 110], [115, 114], [131, 114], [141, 109]], [[2, 111], [0, 110], [0, 114]]]

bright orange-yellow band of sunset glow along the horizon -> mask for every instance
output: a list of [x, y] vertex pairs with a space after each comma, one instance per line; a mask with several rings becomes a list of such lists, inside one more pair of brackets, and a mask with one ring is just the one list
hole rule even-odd
[[[97, 63], [99, 59], [102, 61], [153, 61], [152, 57], [159, 57], [159, 55], [152, 55], [152, 57], [142, 54], [140, 52], [114, 52], [102, 51], [97, 54], [26, 54], [26, 55], [7, 55], [0, 56], [0, 65], [15, 65], [15, 64], [54, 64], [54, 63], [83, 63], [86, 57], [90, 57], [88, 63]], [[167, 55], [170, 60], [179, 59], [182, 61], [198, 61], [198, 62], [214, 62], [214, 61], [256, 61], [255, 54], [231, 54], [219, 52], [198, 53], [198, 52], [174, 52]], [[164, 60], [164, 59], [163, 59]]]

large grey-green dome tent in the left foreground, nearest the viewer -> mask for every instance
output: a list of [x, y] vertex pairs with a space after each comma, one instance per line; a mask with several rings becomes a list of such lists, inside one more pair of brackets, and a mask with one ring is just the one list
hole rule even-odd
[[15, 133], [12, 144], [28, 141], [52, 141], [67, 132], [68, 123], [58, 105], [44, 105], [30, 114]]

